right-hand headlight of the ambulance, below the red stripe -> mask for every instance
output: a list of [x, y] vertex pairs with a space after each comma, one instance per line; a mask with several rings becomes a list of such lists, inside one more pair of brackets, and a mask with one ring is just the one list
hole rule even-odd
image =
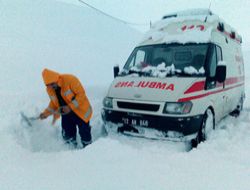
[[192, 102], [166, 102], [163, 113], [188, 114], [192, 109]]

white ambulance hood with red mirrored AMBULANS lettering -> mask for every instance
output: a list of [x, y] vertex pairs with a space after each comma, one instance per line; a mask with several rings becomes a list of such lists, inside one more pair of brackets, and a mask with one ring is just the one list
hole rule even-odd
[[108, 97], [154, 102], [176, 102], [197, 78], [187, 77], [117, 77], [112, 82]]

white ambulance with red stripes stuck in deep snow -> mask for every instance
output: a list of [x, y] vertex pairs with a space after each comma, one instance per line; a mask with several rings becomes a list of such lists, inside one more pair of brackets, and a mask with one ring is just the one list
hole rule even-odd
[[207, 9], [166, 15], [146, 33], [103, 100], [107, 131], [196, 146], [243, 107], [242, 38]]

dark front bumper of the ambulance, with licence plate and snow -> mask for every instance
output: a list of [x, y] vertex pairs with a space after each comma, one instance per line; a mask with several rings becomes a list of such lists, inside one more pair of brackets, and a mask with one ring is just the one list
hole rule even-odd
[[177, 141], [195, 138], [200, 129], [202, 118], [203, 115], [169, 117], [102, 110], [102, 119], [106, 124], [106, 128], [115, 128], [118, 132], [129, 132], [136, 134], [136, 136], [145, 137], [147, 137], [145, 134], [151, 131], [156, 134], [155, 138], [167, 138]]

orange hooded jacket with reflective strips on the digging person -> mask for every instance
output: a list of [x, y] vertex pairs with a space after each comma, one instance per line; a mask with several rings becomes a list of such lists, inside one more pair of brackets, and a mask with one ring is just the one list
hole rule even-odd
[[[45, 85], [57, 83], [61, 87], [61, 96], [76, 115], [78, 115], [86, 123], [92, 117], [92, 108], [85, 94], [85, 90], [80, 81], [73, 75], [59, 74], [49, 69], [44, 69], [42, 72]], [[59, 103], [56, 93], [53, 89], [47, 88], [47, 93], [50, 97], [49, 106], [44, 110], [43, 114], [49, 116], [54, 115], [56, 119], [59, 115]]]

